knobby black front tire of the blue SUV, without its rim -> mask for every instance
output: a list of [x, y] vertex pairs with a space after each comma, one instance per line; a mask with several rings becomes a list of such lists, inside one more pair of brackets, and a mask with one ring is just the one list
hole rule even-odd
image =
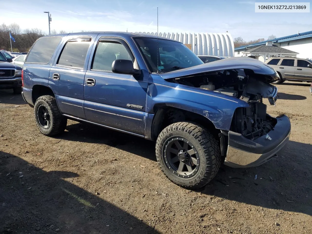
[[[170, 169], [165, 159], [165, 147], [173, 137], [187, 139], [198, 152], [200, 167], [192, 178], [181, 178]], [[217, 174], [221, 165], [221, 150], [215, 137], [202, 126], [193, 122], [178, 122], [161, 131], [156, 141], [156, 159], [162, 172], [173, 183], [191, 189], [197, 189], [209, 183]]]

